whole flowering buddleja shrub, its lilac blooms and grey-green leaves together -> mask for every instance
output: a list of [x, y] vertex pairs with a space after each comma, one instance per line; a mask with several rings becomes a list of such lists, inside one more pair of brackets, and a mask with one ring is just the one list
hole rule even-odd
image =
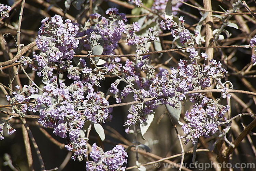
[[[141, 1], [132, 2], [139, 7], [143, 6]], [[68, 3], [67, 1], [66, 7]], [[22, 56], [16, 61], [20, 65], [28, 65], [41, 77], [44, 86], [42, 89], [35, 83], [15, 86], [16, 89], [11, 95], [6, 95], [12, 106], [10, 112], [18, 114], [19, 117], [39, 114], [39, 124], [53, 128], [56, 136], [69, 140], [65, 147], [69, 151], [75, 150], [72, 159], [87, 159], [87, 170], [126, 168], [124, 164], [127, 163], [128, 155], [122, 145], [116, 145], [112, 150], [104, 152], [94, 143], [88, 154], [91, 127], [84, 127], [84, 124], [93, 125], [101, 140], [104, 140], [101, 125], [104, 127], [113, 117], [110, 108], [113, 105], [110, 106], [109, 96], [112, 96], [116, 103], [122, 103], [128, 95], [133, 96], [135, 103], [127, 111], [127, 120], [123, 123], [126, 133], [134, 134], [133, 127], [140, 126], [143, 136], [154, 118], [154, 110], [161, 104], [166, 105], [172, 121], [181, 125], [181, 138], [185, 144], [191, 141], [196, 147], [199, 137], [213, 136], [220, 126], [222, 129], [229, 128], [230, 123], [226, 122], [224, 115], [230, 106], [221, 104], [221, 99], [231, 97], [227, 87], [232, 88], [232, 83], [223, 81], [227, 70], [216, 59], [207, 61], [208, 54], [199, 53], [196, 49], [204, 41], [201, 26], [207, 15], [201, 18], [195, 31], [190, 31], [185, 27], [184, 17], [177, 17], [182, 2], [172, 6], [170, 4], [167, 0], [155, 0], [150, 9], [151, 13], [133, 23], [128, 23], [126, 14], [120, 13], [117, 8], [109, 8], [105, 13], [91, 13], [85, 25], [70, 19], [63, 20], [59, 15], [44, 18], [35, 40], [40, 52], [34, 51], [32, 56]], [[239, 1], [234, 2], [232, 12], [236, 12], [240, 7]], [[2, 5], [1, 9], [1, 18], [8, 17], [4, 10], [11, 10], [10, 6]], [[215, 17], [220, 18], [225, 26], [237, 27], [234, 23], [227, 23], [229, 16]], [[146, 18], [153, 24], [145, 24]], [[172, 35], [173, 43], [177, 47], [185, 47], [183, 50], [188, 57], [180, 59], [177, 67], [156, 70], [151, 64], [154, 57], [150, 55], [149, 49], [154, 44], [156, 49], [158, 47], [157, 50], [162, 50], [159, 46], [159, 33], [163, 33], [163, 30]], [[221, 33], [230, 36], [222, 27], [214, 30], [216, 44], [223, 37]], [[250, 42], [252, 46], [256, 44], [255, 39]], [[121, 58], [111, 56], [115, 55], [120, 41], [125, 41], [127, 46], [136, 47], [134, 60], [127, 59], [122, 62]], [[89, 60], [80, 58], [78, 62], [74, 62], [75, 53], [80, 53], [81, 50], [88, 52], [85, 56], [89, 57]], [[105, 57], [106, 55], [109, 56]], [[202, 61], [205, 61], [203, 65], [200, 64]], [[252, 62], [255, 63], [254, 54]], [[61, 75], [65, 77], [60, 78]], [[115, 81], [108, 87], [108, 91], [98, 91], [99, 87], [105, 86], [106, 75], [113, 76]], [[65, 80], [72, 83], [68, 84]], [[125, 84], [123, 89], [118, 88], [121, 82]], [[197, 92], [215, 85], [217, 89], [221, 89], [221, 96], [217, 99]], [[193, 103], [193, 108], [185, 112], [185, 122], [181, 122], [181, 104], [185, 101]], [[16, 131], [10, 123], [12, 117], [2, 120], [0, 124], [1, 140], [4, 139], [5, 125], [8, 134]], [[146, 128], [144, 125], [147, 125]], [[226, 133], [227, 131], [224, 132], [224, 137]], [[223, 140], [234, 146], [224, 137]], [[138, 147], [138, 143], [134, 146]], [[140, 147], [148, 149], [145, 145]], [[91, 161], [88, 161], [88, 155]], [[139, 162], [137, 167], [144, 169]]]

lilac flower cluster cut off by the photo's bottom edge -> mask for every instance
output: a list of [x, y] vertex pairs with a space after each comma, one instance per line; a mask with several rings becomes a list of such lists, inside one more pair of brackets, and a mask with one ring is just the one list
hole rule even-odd
[[116, 145], [112, 150], [103, 152], [102, 148], [94, 143], [90, 157], [93, 161], [86, 162], [87, 171], [125, 171], [126, 167], [122, 166], [127, 163], [128, 155], [122, 145]]

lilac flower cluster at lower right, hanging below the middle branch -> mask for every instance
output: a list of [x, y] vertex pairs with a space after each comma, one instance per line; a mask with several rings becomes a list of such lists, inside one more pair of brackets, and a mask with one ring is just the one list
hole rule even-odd
[[200, 136], [209, 137], [216, 133], [218, 125], [216, 117], [223, 117], [224, 113], [229, 110], [229, 106], [211, 103], [212, 100], [203, 97], [201, 104], [193, 105], [191, 112], [186, 112], [185, 117], [187, 124], [182, 126], [185, 136], [185, 143], [191, 141], [194, 143]]

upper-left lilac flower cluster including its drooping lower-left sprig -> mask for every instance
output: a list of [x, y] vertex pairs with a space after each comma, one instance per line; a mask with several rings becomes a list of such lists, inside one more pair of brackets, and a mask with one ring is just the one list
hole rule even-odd
[[66, 19], [65, 24], [59, 15], [53, 16], [49, 22], [47, 20], [48, 17], [41, 21], [38, 38], [35, 40], [42, 53], [34, 53], [36, 63], [30, 65], [34, 70], [39, 70], [38, 76], [46, 77], [45, 80], [52, 77], [52, 66], [58, 65], [63, 69], [69, 66], [75, 54], [74, 49], [79, 44], [75, 40], [79, 27], [72, 24], [70, 19]]

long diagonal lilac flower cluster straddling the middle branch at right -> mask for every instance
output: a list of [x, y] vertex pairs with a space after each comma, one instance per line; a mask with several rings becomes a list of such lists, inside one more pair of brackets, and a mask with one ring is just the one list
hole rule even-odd
[[[168, 98], [139, 103], [135, 106], [132, 105], [129, 110], [132, 117], [129, 117], [124, 125], [131, 126], [145, 122], [145, 116], [148, 113], [152, 113], [153, 109], [157, 108], [158, 102], [161, 104], [169, 104], [177, 108], [177, 101], [183, 101], [188, 91], [210, 87], [210, 77], [218, 80], [227, 72], [221, 67], [221, 63], [217, 63], [214, 59], [210, 61], [209, 66], [204, 65], [203, 68], [201, 68], [196, 63], [196, 60], [201, 57], [207, 57], [207, 54], [202, 53], [201, 56], [198, 56], [198, 52], [194, 48], [188, 49], [191, 60], [180, 60], [177, 68], [170, 69], [171, 73], [166, 69], [159, 68], [159, 73], [150, 81], [149, 90], [140, 88], [137, 90], [137, 93], [134, 93], [134, 100], [159, 96]], [[127, 72], [134, 74], [132, 72], [134, 70], [133, 68], [126, 68]], [[199, 99], [203, 98], [202, 94], [190, 94], [189, 96], [190, 101], [193, 103], [199, 103]], [[218, 115], [221, 116], [222, 114], [223, 112]]]

